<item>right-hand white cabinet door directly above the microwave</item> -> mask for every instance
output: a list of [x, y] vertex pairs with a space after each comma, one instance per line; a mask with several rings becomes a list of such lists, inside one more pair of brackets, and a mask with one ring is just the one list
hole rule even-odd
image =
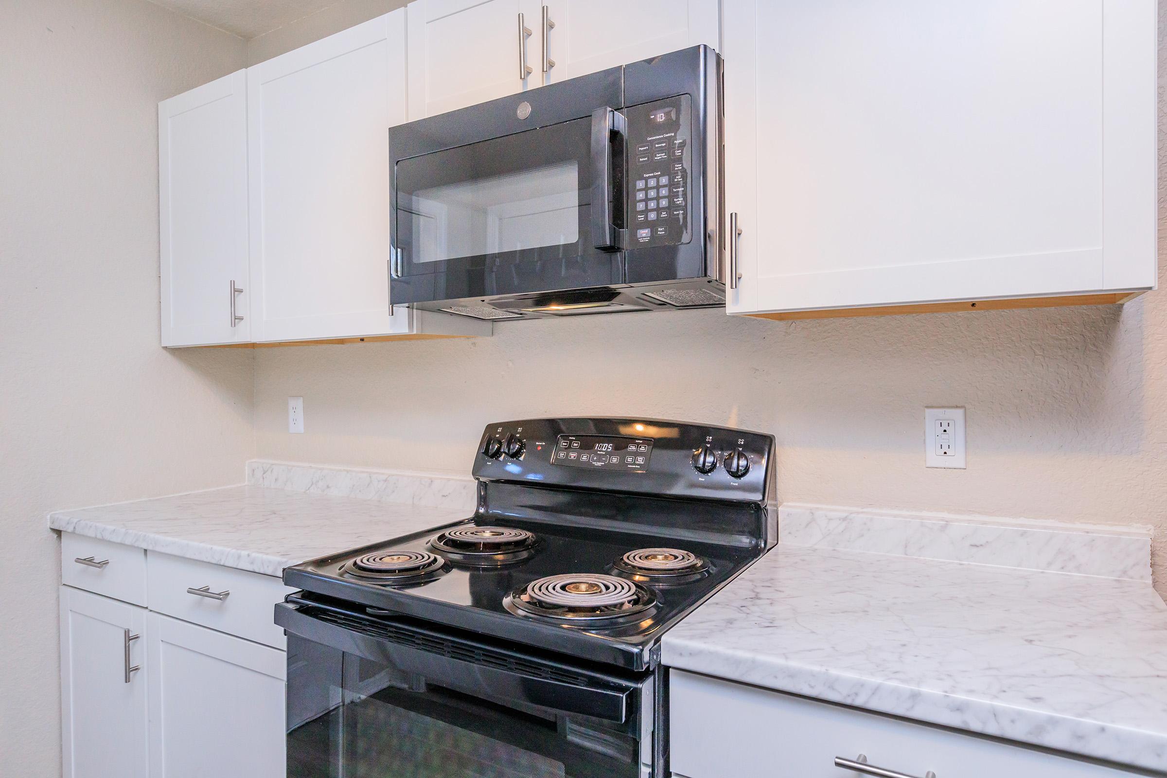
[[[551, 82], [705, 43], [719, 49], [718, 0], [547, 0]], [[540, 16], [541, 23], [541, 16]], [[541, 41], [540, 41], [541, 44]], [[541, 56], [536, 68], [543, 65]]]

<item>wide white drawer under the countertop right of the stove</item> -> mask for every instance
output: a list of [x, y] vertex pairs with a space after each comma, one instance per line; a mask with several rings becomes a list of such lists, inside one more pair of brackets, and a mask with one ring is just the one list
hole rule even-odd
[[942, 778], [1131, 778], [1132, 773], [1005, 741], [962, 735], [729, 681], [669, 673], [676, 778], [861, 778], [857, 759]]

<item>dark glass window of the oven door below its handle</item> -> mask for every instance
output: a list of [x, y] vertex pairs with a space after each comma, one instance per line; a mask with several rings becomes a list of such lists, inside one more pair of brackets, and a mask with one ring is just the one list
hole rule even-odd
[[622, 778], [644, 775], [619, 726], [520, 710], [440, 679], [288, 636], [288, 776]]

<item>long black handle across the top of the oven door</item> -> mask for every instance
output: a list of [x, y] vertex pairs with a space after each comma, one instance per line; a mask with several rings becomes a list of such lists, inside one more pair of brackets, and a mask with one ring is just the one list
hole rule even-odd
[[[320, 605], [312, 603], [309, 607]], [[316, 618], [305, 612], [294, 595], [291, 602], [275, 604], [275, 623], [292, 635], [384, 663], [407, 673], [415, 673], [455, 692], [502, 705], [508, 702], [534, 705], [559, 713], [595, 716], [606, 721], [623, 722], [628, 717], [628, 696], [631, 694], [631, 687], [579, 686], [497, 665], [464, 661], [438, 651], [418, 649], [378, 636], [373, 633], [376, 622], [370, 621], [372, 629], [364, 631], [361, 629], [363, 619], [354, 617], [352, 614], [348, 616], [345, 626]]]

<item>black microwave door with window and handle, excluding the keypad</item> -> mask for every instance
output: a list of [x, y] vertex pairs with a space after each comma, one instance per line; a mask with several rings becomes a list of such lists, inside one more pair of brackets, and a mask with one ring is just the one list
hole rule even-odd
[[601, 108], [397, 160], [393, 302], [622, 283], [623, 141]]

